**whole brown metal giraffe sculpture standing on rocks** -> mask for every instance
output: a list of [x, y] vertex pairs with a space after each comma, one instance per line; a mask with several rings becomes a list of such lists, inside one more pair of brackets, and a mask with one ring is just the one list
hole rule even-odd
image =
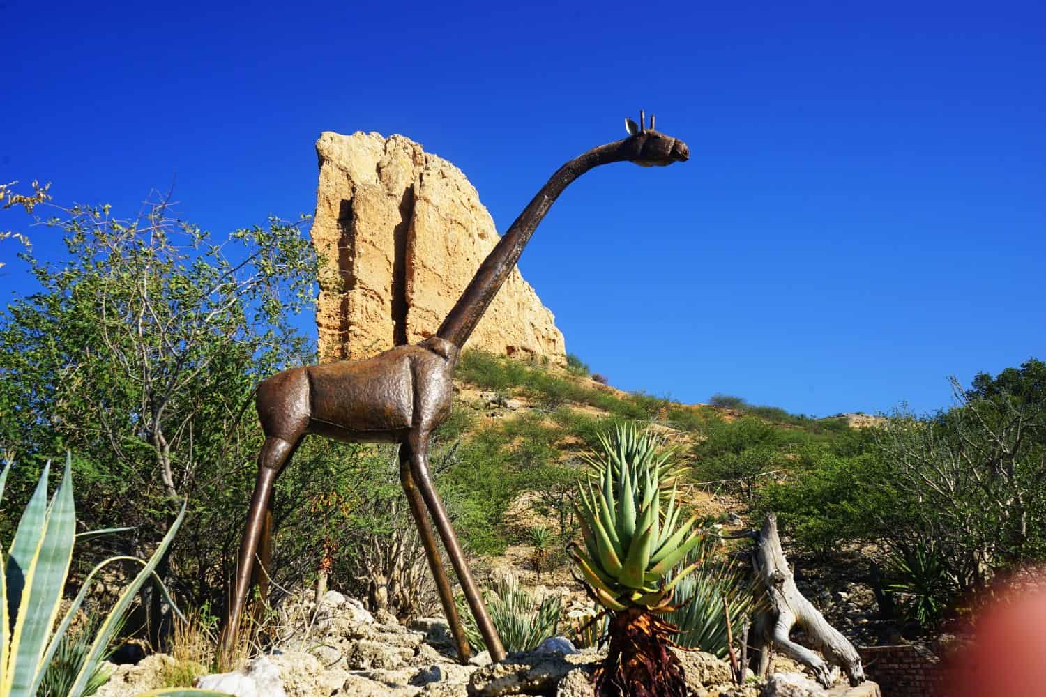
[[[258, 454], [257, 480], [240, 547], [233, 596], [222, 633], [221, 650], [224, 655], [228, 656], [235, 645], [240, 619], [254, 576], [258, 578], [260, 595], [265, 597], [271, 556], [273, 484], [301, 439], [309, 434], [317, 434], [349, 442], [400, 444], [400, 481], [435, 577], [458, 657], [462, 663], [469, 659], [469, 643], [429, 524], [430, 515], [491, 658], [498, 661], [504, 657], [501, 640], [487, 615], [442, 502], [433, 487], [428, 463], [429, 436], [451, 413], [454, 366], [461, 347], [516, 266], [535, 229], [563, 190], [593, 167], [611, 162], [634, 162], [650, 167], [683, 162], [689, 158], [689, 150], [683, 141], [654, 130], [653, 115], [649, 129], [644, 121], [642, 112], [639, 112], [638, 124], [626, 119], [628, 138], [594, 147], [552, 175], [483, 260], [435, 335], [417, 345], [397, 346], [363, 361], [292, 368], [258, 385], [255, 405], [265, 443]], [[255, 556], [262, 567], [257, 574], [254, 570]]]

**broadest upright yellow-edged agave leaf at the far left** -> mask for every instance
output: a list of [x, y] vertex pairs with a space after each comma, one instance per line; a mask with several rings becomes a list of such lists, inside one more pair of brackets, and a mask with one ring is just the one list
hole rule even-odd
[[62, 589], [72, 561], [75, 538], [76, 511], [72, 498], [71, 464], [67, 459], [62, 484], [39, 531], [37, 549], [21, 570], [24, 585], [18, 609], [13, 612], [12, 663], [5, 678], [5, 688], [10, 695], [35, 695], [43, 677], [46, 665], [41, 664], [41, 658], [61, 607]]

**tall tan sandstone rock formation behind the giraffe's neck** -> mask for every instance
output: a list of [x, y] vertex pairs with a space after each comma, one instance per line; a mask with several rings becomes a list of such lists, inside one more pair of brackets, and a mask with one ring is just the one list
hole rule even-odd
[[[316, 152], [320, 359], [365, 357], [431, 335], [498, 240], [476, 189], [403, 136], [326, 132]], [[528, 195], [521, 192], [521, 206]], [[565, 356], [552, 313], [518, 270], [467, 346]]]

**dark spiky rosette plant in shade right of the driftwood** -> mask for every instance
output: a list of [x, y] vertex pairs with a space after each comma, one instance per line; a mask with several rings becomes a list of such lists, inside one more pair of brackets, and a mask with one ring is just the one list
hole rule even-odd
[[893, 551], [887, 562], [892, 582], [887, 589], [900, 596], [908, 621], [932, 629], [943, 619], [956, 597], [948, 560], [933, 542], [917, 540]]

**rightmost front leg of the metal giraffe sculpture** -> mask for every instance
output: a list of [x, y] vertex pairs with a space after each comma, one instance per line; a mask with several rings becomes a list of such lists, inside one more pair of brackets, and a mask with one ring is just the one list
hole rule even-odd
[[476, 618], [479, 633], [483, 636], [486, 649], [491, 652], [491, 659], [497, 663], [505, 657], [505, 649], [501, 646], [501, 638], [498, 636], [498, 631], [494, 628], [494, 623], [491, 622], [491, 617], [486, 612], [486, 605], [483, 604], [483, 598], [479, 595], [479, 588], [476, 587], [476, 582], [472, 578], [469, 564], [465, 563], [464, 555], [461, 553], [461, 545], [457, 541], [457, 535], [454, 533], [450, 518], [447, 517], [447, 511], [444, 509], [444, 503], [439, 501], [439, 495], [432, 485], [432, 478], [429, 475], [429, 434], [427, 432], [415, 431], [408, 437], [408, 444], [411, 451], [411, 474], [413, 474], [414, 482], [417, 483], [417, 488], [422, 491], [422, 497], [425, 499], [429, 513], [436, 524], [439, 537], [444, 540], [444, 549], [447, 550], [447, 556], [451, 558], [451, 564], [454, 565], [454, 573], [457, 574], [458, 582], [461, 584], [461, 590], [469, 602], [472, 615]]

